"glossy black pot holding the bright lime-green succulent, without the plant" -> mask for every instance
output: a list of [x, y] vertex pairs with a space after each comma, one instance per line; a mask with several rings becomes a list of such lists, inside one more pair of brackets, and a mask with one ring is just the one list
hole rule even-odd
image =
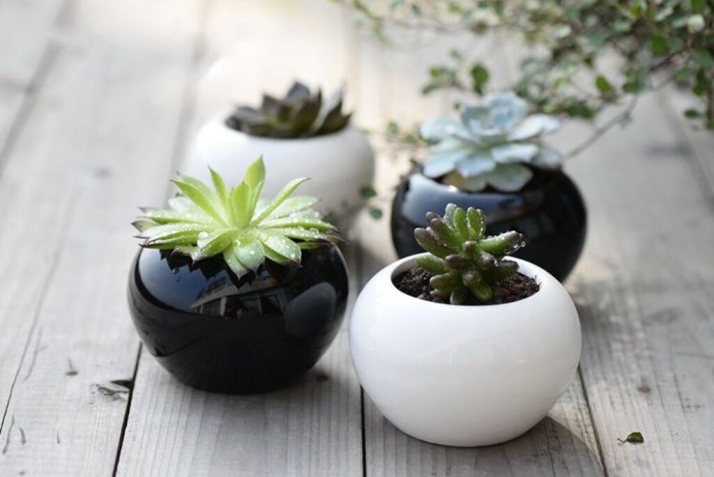
[[348, 278], [336, 246], [302, 266], [266, 261], [238, 279], [221, 257], [196, 263], [142, 249], [129, 308], [148, 351], [180, 381], [222, 393], [266, 391], [311, 368], [335, 338]]

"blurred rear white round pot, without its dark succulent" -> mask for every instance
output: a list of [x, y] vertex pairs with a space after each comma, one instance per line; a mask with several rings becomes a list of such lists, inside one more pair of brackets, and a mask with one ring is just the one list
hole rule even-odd
[[292, 179], [309, 177], [298, 194], [320, 198], [317, 209], [324, 213], [351, 217], [361, 206], [361, 186], [370, 185], [374, 175], [374, 152], [362, 131], [347, 126], [326, 136], [272, 139], [231, 129], [224, 117], [198, 131], [181, 165], [182, 174], [210, 181], [206, 166], [211, 166], [233, 186], [262, 155], [267, 170], [266, 196], [277, 194]]

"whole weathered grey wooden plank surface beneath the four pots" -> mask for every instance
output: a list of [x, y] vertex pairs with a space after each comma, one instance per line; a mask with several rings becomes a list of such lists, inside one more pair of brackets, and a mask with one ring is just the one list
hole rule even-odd
[[[568, 281], [583, 324], [568, 393], [525, 436], [456, 449], [376, 411], [346, 326], [286, 390], [187, 388], [138, 353], [124, 287], [134, 206], [164, 198], [202, 121], [305, 79], [346, 81], [369, 129], [416, 122], [451, 106], [417, 91], [465, 39], [387, 49], [323, 0], [6, 0], [0, 40], [0, 475], [714, 474], [714, 139], [680, 119], [682, 95], [644, 99], [568, 164], [590, 212]], [[511, 46], [466, 45], [509, 83]], [[383, 194], [405, 168], [381, 154]], [[354, 291], [394, 258], [386, 219], [354, 233]], [[643, 445], [618, 443], [635, 430]]]

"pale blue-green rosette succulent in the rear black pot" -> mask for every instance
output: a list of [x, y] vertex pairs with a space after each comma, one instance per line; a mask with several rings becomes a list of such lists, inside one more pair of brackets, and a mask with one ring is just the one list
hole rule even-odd
[[443, 116], [421, 126], [436, 144], [429, 149], [424, 174], [471, 192], [492, 186], [518, 191], [533, 177], [528, 166], [558, 169], [563, 156], [542, 136], [560, 127], [546, 114], [526, 116], [526, 102], [513, 93], [490, 94], [483, 106], [462, 106], [458, 118]]

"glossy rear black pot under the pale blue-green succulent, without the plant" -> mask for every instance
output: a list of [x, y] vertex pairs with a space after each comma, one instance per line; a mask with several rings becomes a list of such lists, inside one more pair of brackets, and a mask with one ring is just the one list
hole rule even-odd
[[583, 197], [562, 172], [534, 171], [526, 187], [515, 193], [464, 192], [422, 174], [416, 166], [399, 184], [392, 204], [392, 241], [400, 257], [421, 253], [415, 227], [426, 226], [428, 211], [443, 214], [446, 204], [476, 207], [487, 217], [488, 234], [516, 230], [528, 245], [516, 256], [545, 268], [563, 281], [578, 261], [585, 243]]

